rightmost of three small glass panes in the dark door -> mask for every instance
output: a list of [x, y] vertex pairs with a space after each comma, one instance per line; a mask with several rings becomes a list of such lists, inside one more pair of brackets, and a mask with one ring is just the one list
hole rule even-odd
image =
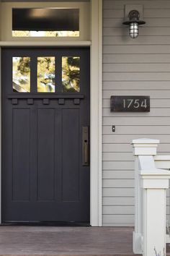
[[80, 57], [62, 57], [62, 91], [80, 91]]

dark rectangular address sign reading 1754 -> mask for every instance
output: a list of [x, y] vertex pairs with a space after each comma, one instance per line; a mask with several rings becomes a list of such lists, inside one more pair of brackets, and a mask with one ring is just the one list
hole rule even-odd
[[149, 96], [111, 96], [110, 107], [112, 112], [149, 112]]

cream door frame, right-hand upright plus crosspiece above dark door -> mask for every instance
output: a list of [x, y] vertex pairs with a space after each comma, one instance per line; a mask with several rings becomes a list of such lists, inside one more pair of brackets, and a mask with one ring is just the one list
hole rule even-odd
[[[39, 4], [41, 4], [39, 2]], [[0, 96], [1, 47], [7, 46], [89, 46], [90, 47], [90, 224], [102, 226], [102, 0], [91, 0], [91, 40], [88, 41], [0, 41]], [[1, 97], [0, 97], [1, 101]], [[1, 103], [1, 102], [0, 102]], [[1, 106], [0, 106], [1, 132]], [[0, 151], [1, 151], [0, 139]], [[1, 163], [1, 154], [0, 154]], [[0, 223], [1, 223], [1, 166], [0, 166]]]

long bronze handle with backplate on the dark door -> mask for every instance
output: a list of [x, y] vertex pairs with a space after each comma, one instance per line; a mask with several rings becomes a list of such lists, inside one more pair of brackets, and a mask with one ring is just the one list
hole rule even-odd
[[82, 130], [82, 164], [89, 166], [89, 127]]

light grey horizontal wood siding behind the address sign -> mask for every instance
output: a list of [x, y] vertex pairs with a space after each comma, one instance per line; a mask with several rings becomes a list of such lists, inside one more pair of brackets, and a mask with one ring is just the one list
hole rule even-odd
[[[136, 39], [122, 25], [125, 4], [143, 4], [146, 25]], [[149, 95], [151, 112], [111, 113], [111, 95]], [[159, 139], [158, 153], [170, 154], [170, 1], [104, 0], [103, 226], [134, 226], [130, 142], [140, 137]]]

